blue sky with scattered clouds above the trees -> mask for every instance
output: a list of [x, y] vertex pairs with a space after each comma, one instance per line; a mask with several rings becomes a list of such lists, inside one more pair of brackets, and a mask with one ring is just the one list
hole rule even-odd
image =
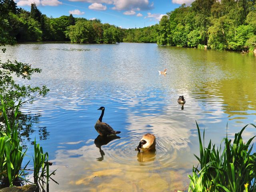
[[193, 0], [15, 0], [18, 7], [30, 11], [35, 2], [42, 14], [53, 18], [74, 17], [100, 19], [102, 23], [122, 28], [142, 28], [159, 22], [161, 17], [181, 4]]

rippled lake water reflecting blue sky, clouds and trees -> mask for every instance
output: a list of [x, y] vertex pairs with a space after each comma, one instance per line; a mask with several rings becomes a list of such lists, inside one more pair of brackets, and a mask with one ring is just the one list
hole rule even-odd
[[[41, 68], [30, 81], [50, 92], [20, 110], [28, 121], [23, 144], [31, 160], [36, 137], [53, 162], [62, 191], [185, 191], [198, 161], [196, 128], [205, 142], [220, 144], [246, 124], [256, 124], [256, 57], [239, 52], [157, 46], [156, 44], [17, 44], [1, 60]], [[158, 70], [167, 69], [167, 74]], [[178, 104], [184, 95], [186, 104]], [[119, 137], [102, 140], [103, 122]], [[227, 129], [228, 124], [228, 129]], [[138, 153], [140, 138], [156, 136], [156, 151]], [[249, 126], [243, 138], [256, 135]]]

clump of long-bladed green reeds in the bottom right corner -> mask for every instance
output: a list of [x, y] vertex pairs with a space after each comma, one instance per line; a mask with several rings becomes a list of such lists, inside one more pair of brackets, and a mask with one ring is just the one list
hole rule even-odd
[[[249, 124], [248, 124], [249, 125]], [[248, 126], [235, 134], [233, 143], [224, 138], [224, 149], [216, 148], [211, 140], [207, 147], [204, 146], [198, 129], [200, 157], [198, 166], [189, 175], [190, 185], [188, 192], [255, 192], [256, 191], [256, 153], [252, 153], [254, 137], [247, 143], [242, 139], [242, 132]], [[250, 124], [256, 128], [254, 124]], [[222, 142], [223, 142], [222, 140]]]

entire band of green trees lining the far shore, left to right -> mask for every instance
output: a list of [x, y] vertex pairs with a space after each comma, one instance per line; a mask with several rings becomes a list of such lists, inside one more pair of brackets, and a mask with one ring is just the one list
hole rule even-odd
[[76, 43], [142, 42], [216, 50], [254, 50], [256, 0], [196, 0], [163, 16], [154, 26], [122, 29], [100, 20], [60, 16], [48, 18], [35, 3], [30, 12], [14, 0], [0, 0], [6, 26], [0, 32], [18, 42], [71, 41]]

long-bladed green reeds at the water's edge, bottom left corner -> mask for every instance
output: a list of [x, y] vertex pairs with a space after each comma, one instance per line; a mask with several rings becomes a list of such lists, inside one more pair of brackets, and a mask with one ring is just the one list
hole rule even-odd
[[[22, 151], [22, 146], [20, 146], [20, 139], [18, 137], [18, 124], [15, 124], [15, 120], [18, 114], [18, 108], [20, 106], [20, 102], [16, 107], [14, 112], [14, 117], [12, 118], [12, 122], [8, 120], [6, 115], [6, 110], [4, 108], [4, 102], [2, 102], [2, 115], [5, 120], [5, 130], [0, 131], [0, 183], [5, 184], [7, 186], [13, 186], [14, 182], [20, 182], [21, 180], [26, 180], [26, 175], [28, 175], [28, 166], [29, 162], [22, 167], [22, 162], [24, 160], [24, 156], [28, 148]], [[39, 144], [36, 144], [36, 139], [34, 141], [34, 183], [38, 184], [38, 181], [44, 182], [46, 178], [46, 184], [48, 184], [49, 178], [52, 172], [49, 174], [49, 165], [48, 162], [48, 153], [43, 153], [42, 147]]]

